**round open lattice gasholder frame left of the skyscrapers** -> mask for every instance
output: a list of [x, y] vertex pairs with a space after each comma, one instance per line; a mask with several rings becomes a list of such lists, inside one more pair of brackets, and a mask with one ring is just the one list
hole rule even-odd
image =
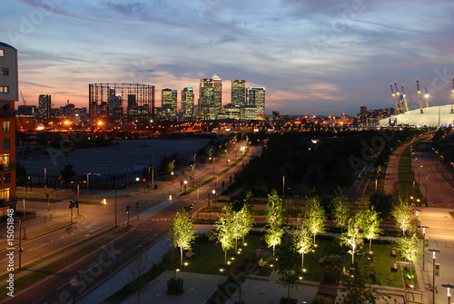
[[154, 118], [154, 86], [132, 83], [90, 83], [90, 127], [115, 128], [124, 124], [146, 129]]

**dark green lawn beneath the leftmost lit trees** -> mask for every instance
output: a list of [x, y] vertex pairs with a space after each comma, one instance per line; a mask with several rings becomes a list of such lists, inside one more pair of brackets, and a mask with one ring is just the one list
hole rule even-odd
[[[261, 236], [246, 236], [245, 240], [247, 246], [242, 248], [242, 240], [238, 240], [238, 248], [242, 248], [240, 255], [234, 254], [234, 249], [227, 250], [227, 260], [231, 260], [232, 257], [239, 259], [244, 256], [249, 250], [255, 250], [259, 247], [262, 237]], [[205, 242], [200, 244], [197, 248], [192, 250], [195, 254], [187, 259], [183, 257], [183, 261], [187, 261], [189, 264], [183, 268], [182, 271], [195, 272], [195, 273], [206, 273], [206, 274], [222, 274], [220, 269], [225, 269], [224, 266], [224, 251], [216, 240]], [[257, 259], [258, 261], [259, 259]], [[225, 269], [226, 270], [226, 269]], [[225, 271], [224, 271], [225, 273]]]

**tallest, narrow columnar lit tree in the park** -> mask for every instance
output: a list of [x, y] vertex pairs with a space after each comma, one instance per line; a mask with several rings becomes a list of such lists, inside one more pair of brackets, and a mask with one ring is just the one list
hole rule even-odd
[[281, 225], [284, 219], [284, 207], [276, 190], [273, 189], [271, 190], [271, 194], [268, 194], [268, 203], [266, 204], [266, 207], [268, 230], [265, 234], [265, 241], [269, 247], [272, 247], [272, 256], [274, 257], [276, 245], [281, 244], [281, 238], [283, 235]]

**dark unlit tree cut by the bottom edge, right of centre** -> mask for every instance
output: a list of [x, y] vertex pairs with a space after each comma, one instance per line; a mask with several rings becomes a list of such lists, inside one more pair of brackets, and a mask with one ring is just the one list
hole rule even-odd
[[375, 304], [378, 299], [384, 298], [377, 289], [370, 285], [376, 282], [375, 271], [370, 265], [370, 261], [360, 257], [353, 264], [350, 276], [346, 276], [342, 281], [344, 295], [341, 299], [342, 304]]

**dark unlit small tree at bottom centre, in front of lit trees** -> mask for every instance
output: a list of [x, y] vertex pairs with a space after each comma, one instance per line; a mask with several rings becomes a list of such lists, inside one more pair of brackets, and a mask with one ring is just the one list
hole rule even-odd
[[290, 299], [290, 290], [298, 288], [298, 264], [295, 263], [295, 260], [299, 258], [298, 252], [294, 250], [294, 247], [288, 245], [281, 249], [278, 258], [276, 270], [279, 278], [276, 282], [288, 289], [287, 297]]

